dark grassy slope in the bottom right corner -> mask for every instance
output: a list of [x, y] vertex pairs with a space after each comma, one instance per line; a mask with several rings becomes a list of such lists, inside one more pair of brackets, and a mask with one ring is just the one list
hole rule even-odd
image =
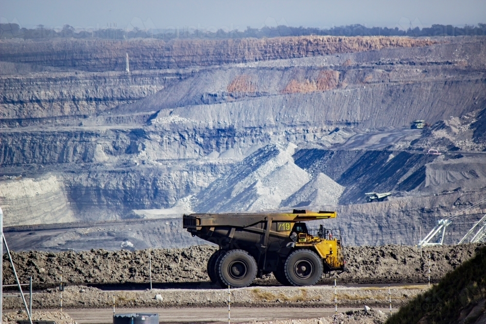
[[[419, 294], [394, 314], [387, 324], [416, 324], [424, 316], [426, 323], [457, 323], [461, 311], [476, 306], [486, 298], [486, 247], [477, 248], [476, 256], [446, 274], [434, 287]], [[484, 309], [483, 309], [484, 311]], [[474, 323], [477, 318], [468, 319]]]

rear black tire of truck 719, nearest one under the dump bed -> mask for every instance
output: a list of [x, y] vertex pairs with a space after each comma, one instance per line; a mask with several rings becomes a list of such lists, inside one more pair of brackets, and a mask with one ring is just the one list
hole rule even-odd
[[257, 261], [244, 250], [229, 250], [218, 258], [218, 275], [223, 287], [248, 287], [255, 280], [257, 270]]

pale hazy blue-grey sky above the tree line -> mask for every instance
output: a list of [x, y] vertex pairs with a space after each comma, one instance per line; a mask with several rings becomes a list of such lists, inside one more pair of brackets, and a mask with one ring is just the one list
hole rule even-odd
[[1, 0], [0, 20], [21, 27], [174, 28], [216, 30], [246, 26], [327, 28], [348, 24], [367, 27], [462, 26], [486, 22], [485, 0]]

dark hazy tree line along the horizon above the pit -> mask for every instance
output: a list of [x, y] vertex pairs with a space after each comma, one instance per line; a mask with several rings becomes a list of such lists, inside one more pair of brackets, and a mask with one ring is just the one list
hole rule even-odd
[[477, 26], [454, 27], [452, 25], [432, 25], [428, 28], [409, 28], [401, 30], [387, 27], [365, 27], [363, 25], [349, 25], [332, 27], [328, 29], [306, 28], [306, 27], [263, 27], [260, 29], [247, 27], [244, 31], [232, 30], [217, 31], [190, 30], [188, 28], [173, 29], [149, 29], [140, 30], [134, 28], [125, 31], [119, 28], [88, 29], [76, 32], [72, 26], [64, 25], [61, 31], [46, 28], [38, 25], [35, 29], [20, 28], [18, 24], [0, 24], [0, 38], [23, 38], [23, 39], [45, 39], [45, 38], [101, 38], [101, 39], [129, 39], [129, 38], [157, 38], [170, 40], [174, 38], [202, 38], [202, 39], [224, 39], [244, 37], [277, 37], [277, 36], [302, 36], [302, 35], [332, 35], [332, 36], [462, 36], [462, 35], [486, 35], [486, 24], [479, 23]]

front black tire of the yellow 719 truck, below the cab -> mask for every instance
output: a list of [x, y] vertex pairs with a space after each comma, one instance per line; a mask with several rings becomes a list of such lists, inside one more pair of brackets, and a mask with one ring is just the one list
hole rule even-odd
[[284, 272], [292, 286], [313, 286], [322, 277], [322, 259], [311, 250], [295, 250], [287, 257]]

